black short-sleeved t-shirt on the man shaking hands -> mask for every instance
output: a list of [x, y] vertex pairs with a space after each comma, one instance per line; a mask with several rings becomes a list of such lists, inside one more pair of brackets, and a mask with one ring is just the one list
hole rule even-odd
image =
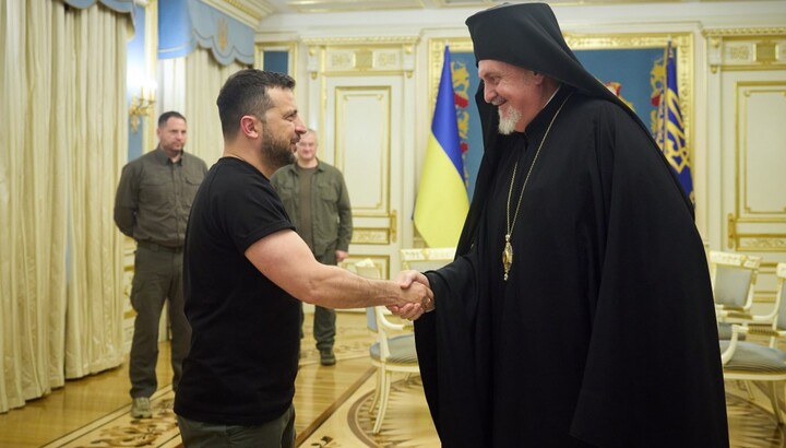
[[211, 168], [186, 232], [183, 293], [192, 337], [175, 399], [179, 415], [257, 425], [291, 404], [300, 304], [245, 256], [285, 228], [294, 227], [284, 205], [257, 168], [231, 157]]

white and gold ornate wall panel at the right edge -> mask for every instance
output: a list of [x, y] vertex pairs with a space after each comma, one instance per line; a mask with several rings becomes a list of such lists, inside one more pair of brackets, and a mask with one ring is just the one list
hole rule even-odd
[[[722, 250], [762, 257], [757, 299], [775, 295], [786, 261], [786, 28], [704, 32], [710, 104], [718, 106], [708, 141], [718, 193], [713, 215]], [[713, 95], [713, 89], [717, 95]], [[715, 99], [717, 98], [717, 99]]]

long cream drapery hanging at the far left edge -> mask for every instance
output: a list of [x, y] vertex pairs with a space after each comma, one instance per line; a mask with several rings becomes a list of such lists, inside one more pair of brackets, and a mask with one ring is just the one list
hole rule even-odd
[[131, 17], [0, 2], [0, 412], [122, 362]]

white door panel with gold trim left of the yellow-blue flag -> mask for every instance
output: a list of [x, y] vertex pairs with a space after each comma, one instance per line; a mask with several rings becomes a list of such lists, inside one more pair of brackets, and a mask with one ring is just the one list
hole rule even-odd
[[[398, 266], [402, 233], [412, 234], [414, 45], [417, 37], [305, 39], [309, 126], [319, 156], [344, 174], [355, 232], [350, 257]], [[405, 213], [407, 213], [405, 215]], [[372, 257], [373, 258], [373, 257]], [[390, 274], [390, 262], [383, 273]]]

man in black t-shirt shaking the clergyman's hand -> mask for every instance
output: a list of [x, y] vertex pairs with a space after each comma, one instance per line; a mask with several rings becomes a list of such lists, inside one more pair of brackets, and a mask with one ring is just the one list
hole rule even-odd
[[384, 305], [408, 319], [432, 307], [425, 279], [402, 288], [321, 264], [294, 232], [269, 181], [306, 131], [294, 86], [286, 74], [249, 69], [218, 95], [224, 156], [204, 178], [186, 233], [192, 340], [175, 399], [186, 447], [294, 446], [298, 299]]

